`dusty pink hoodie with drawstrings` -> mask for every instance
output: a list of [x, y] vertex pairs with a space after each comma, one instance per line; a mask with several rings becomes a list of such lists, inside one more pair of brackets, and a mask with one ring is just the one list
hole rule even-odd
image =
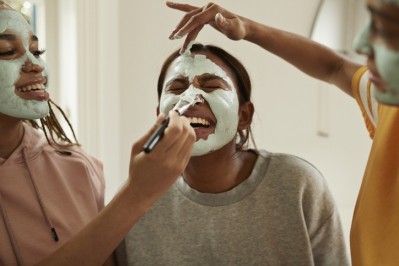
[[[64, 149], [70, 155], [61, 154], [42, 132], [24, 128], [18, 148], [8, 159], [0, 158], [0, 265], [17, 265], [17, 257], [25, 265], [39, 262], [104, 207], [105, 182], [98, 160], [79, 147]], [[53, 239], [49, 224], [59, 241]]]

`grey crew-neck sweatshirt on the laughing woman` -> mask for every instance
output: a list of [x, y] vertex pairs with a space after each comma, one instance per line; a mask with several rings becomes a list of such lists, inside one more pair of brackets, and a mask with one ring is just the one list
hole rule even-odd
[[257, 152], [251, 175], [227, 192], [200, 193], [179, 178], [126, 236], [120, 265], [349, 265], [320, 172]]

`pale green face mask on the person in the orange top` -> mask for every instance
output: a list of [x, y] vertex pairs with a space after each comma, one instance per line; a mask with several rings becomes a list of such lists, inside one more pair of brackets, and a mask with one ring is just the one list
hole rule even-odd
[[[396, 2], [399, 0], [383, 0], [382, 2]], [[377, 71], [387, 84], [385, 91], [376, 90], [376, 99], [384, 104], [399, 105], [399, 50], [394, 50], [383, 43], [371, 42], [371, 19], [356, 36], [354, 48], [362, 54], [374, 54]]]

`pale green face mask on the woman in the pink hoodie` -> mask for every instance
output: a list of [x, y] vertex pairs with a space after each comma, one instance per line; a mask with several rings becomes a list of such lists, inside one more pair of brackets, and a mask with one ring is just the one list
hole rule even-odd
[[44, 62], [29, 51], [31, 27], [17, 11], [0, 10], [0, 33], [6, 30], [21, 38], [26, 53], [17, 59], [0, 60], [0, 113], [22, 119], [42, 118], [49, 112], [47, 101], [25, 100], [15, 94], [15, 84], [26, 60], [46, 68]]

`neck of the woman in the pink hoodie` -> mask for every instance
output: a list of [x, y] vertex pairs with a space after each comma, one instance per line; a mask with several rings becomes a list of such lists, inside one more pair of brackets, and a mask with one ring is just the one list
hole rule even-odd
[[22, 121], [0, 114], [0, 157], [7, 159], [21, 143], [24, 135]]

